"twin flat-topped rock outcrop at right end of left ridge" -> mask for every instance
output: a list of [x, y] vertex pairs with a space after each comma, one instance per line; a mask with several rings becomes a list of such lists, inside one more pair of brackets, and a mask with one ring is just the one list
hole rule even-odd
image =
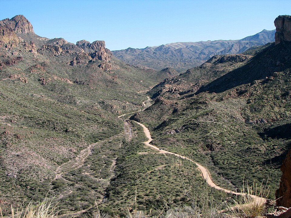
[[76, 45], [85, 52], [91, 53], [92, 59], [96, 58], [101, 61], [109, 61], [112, 57], [111, 51], [105, 48], [105, 41], [94, 41], [90, 43], [86, 40], [77, 41]]

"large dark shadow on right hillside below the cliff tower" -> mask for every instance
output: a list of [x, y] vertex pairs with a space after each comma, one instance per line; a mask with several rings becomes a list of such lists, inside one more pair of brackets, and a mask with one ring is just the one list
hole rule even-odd
[[284, 71], [291, 67], [291, 42], [271, 44], [256, 54], [247, 64], [217, 78], [195, 94], [201, 92], [223, 92], [242, 84], [252, 83], [273, 75], [273, 72]]

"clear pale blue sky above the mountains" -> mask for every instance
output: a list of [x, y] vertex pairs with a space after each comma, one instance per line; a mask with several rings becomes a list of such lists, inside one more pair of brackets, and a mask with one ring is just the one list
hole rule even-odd
[[241, 39], [275, 29], [290, 0], [0, 0], [0, 20], [24, 15], [37, 35], [104, 40], [110, 50]]

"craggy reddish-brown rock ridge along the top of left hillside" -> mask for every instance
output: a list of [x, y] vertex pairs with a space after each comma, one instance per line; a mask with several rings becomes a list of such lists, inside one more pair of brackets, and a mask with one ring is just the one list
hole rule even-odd
[[[11, 19], [6, 18], [0, 21], [0, 29], [2, 30], [0, 45], [6, 50], [22, 46], [26, 51], [35, 55], [44, 54], [44, 51], [48, 51], [49, 54], [54, 56], [74, 55], [75, 58], [68, 62], [72, 66], [88, 64], [90, 61], [96, 60], [108, 62], [112, 58], [112, 54], [105, 47], [104, 41], [89, 43], [82, 40], [75, 45], [63, 38], [39, 37], [34, 33], [31, 23], [23, 15], [16, 15]], [[18, 51], [14, 52], [14, 54], [16, 53]]]

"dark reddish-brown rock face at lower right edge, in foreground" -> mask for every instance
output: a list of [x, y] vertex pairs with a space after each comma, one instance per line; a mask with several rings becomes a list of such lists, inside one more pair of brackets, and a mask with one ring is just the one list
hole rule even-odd
[[276, 203], [278, 206], [291, 207], [291, 149], [281, 166], [283, 175], [279, 189], [276, 191]]

